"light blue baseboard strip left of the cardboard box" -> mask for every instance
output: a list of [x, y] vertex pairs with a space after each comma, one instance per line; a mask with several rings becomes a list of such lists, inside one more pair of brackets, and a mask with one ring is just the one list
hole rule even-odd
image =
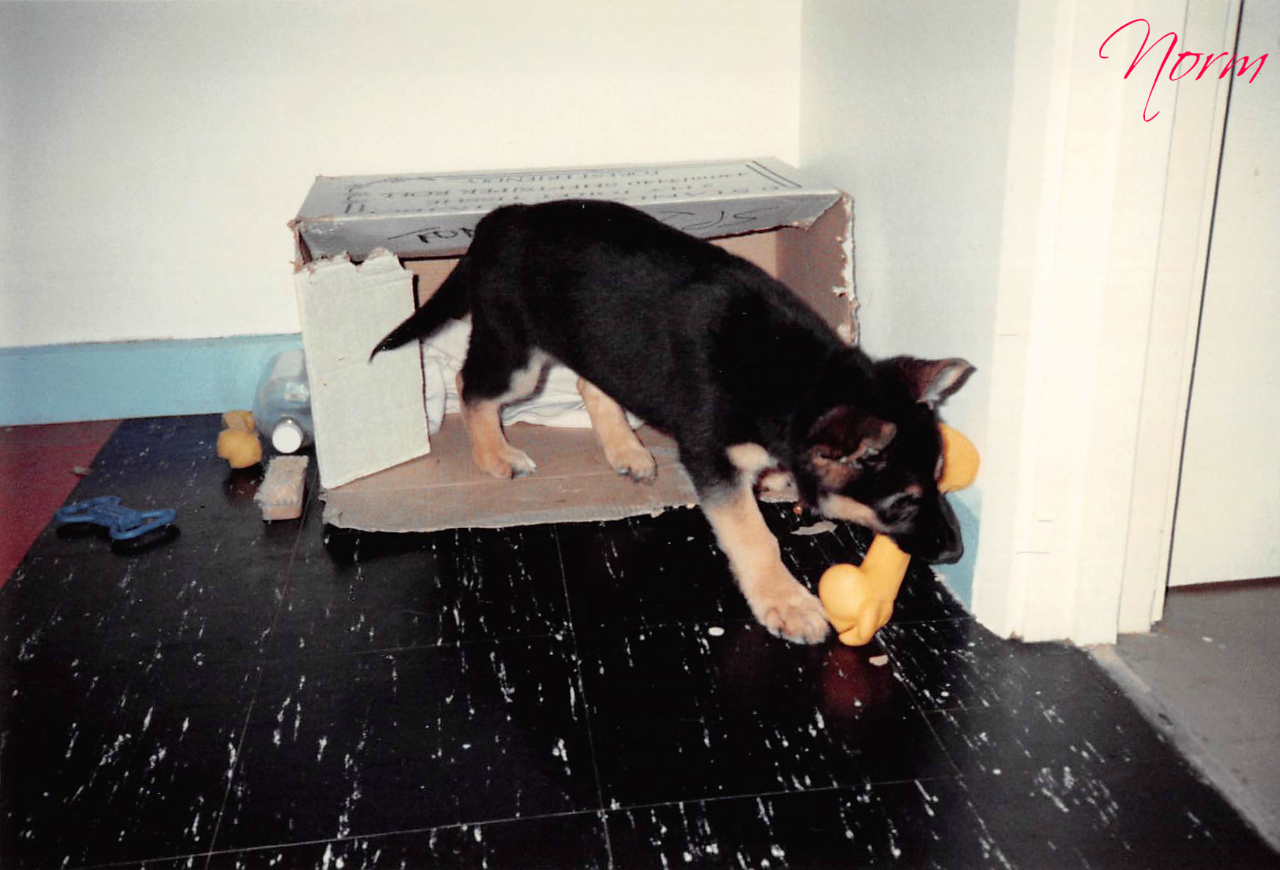
[[250, 408], [268, 361], [302, 336], [0, 348], [0, 426]]

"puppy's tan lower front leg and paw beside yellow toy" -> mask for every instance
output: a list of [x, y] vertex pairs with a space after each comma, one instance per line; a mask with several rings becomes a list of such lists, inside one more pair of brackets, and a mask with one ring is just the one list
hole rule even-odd
[[778, 540], [764, 525], [749, 482], [744, 478], [703, 504], [703, 512], [760, 624], [788, 641], [820, 642], [828, 629], [822, 603], [782, 564]]

